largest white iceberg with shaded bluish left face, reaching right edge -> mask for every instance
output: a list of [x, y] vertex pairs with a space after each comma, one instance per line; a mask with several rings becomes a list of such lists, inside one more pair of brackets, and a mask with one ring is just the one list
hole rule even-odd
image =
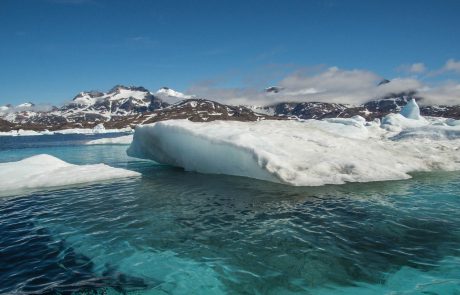
[[[425, 121], [411, 128], [433, 132]], [[188, 171], [299, 186], [406, 179], [409, 172], [460, 169], [455, 132], [442, 141], [397, 134], [381, 128], [378, 121], [366, 123], [359, 117], [303, 122], [172, 120], [136, 128], [128, 155]]]

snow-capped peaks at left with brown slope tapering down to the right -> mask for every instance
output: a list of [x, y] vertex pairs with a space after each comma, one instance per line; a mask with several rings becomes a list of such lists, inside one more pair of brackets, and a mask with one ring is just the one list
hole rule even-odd
[[[177, 102], [171, 104], [166, 99]], [[117, 85], [108, 92], [81, 92], [71, 102], [50, 111], [5, 110], [0, 113], [0, 131], [94, 128], [101, 123], [107, 128], [124, 128], [169, 119], [255, 121], [258, 118], [264, 115], [246, 107], [193, 98], [166, 87], [152, 93], [143, 87]]]

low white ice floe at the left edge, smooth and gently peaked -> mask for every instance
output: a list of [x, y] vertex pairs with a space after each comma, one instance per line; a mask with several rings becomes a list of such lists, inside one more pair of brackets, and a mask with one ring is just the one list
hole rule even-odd
[[73, 165], [50, 155], [0, 163], [0, 195], [30, 190], [140, 176], [138, 172], [105, 164]]

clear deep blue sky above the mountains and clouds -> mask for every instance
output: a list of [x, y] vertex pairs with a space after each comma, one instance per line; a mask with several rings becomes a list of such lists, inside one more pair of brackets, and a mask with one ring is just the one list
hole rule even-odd
[[442, 69], [460, 59], [459, 13], [448, 0], [0, 0], [0, 104], [115, 84], [264, 87], [318, 66], [455, 80]]

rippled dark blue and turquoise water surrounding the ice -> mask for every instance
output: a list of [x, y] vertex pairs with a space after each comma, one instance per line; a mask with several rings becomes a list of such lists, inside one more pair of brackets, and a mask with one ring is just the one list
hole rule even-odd
[[0, 293], [460, 294], [458, 172], [299, 188], [15, 140], [143, 176], [1, 198]]

